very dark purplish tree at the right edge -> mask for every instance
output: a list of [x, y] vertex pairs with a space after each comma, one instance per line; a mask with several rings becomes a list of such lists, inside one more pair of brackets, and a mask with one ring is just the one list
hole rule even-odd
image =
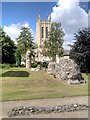
[[70, 58], [80, 66], [82, 72], [90, 72], [90, 29], [79, 30], [75, 33], [75, 40], [71, 46]]

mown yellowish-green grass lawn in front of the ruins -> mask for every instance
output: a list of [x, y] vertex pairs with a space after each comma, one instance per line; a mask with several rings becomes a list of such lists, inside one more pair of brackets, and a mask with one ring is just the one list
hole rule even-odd
[[[88, 85], [69, 86], [45, 72], [2, 69], [2, 100], [29, 100], [88, 95]], [[88, 81], [88, 76], [83, 74]]]

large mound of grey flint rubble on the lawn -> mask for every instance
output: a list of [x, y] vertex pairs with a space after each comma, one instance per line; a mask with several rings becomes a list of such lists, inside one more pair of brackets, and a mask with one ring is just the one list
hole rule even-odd
[[85, 80], [82, 77], [79, 66], [72, 60], [60, 58], [59, 63], [49, 63], [48, 74], [53, 75], [68, 84], [82, 84]]

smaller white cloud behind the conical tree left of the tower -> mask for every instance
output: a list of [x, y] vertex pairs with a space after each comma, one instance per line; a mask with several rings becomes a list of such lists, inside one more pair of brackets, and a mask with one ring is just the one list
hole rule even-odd
[[21, 23], [17, 23], [17, 24], [11, 24], [10, 26], [4, 26], [4, 31], [6, 32], [6, 34], [8, 36], [11, 37], [12, 40], [16, 42], [16, 38], [18, 38], [20, 32], [21, 32], [21, 27], [24, 26], [24, 27], [28, 27], [30, 28], [30, 31], [34, 37], [34, 31], [32, 30], [32, 28], [30, 27], [29, 23], [28, 22], [25, 22], [23, 24]]

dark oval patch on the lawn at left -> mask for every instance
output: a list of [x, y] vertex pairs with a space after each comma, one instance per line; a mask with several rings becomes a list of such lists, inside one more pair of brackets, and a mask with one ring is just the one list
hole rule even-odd
[[27, 71], [8, 71], [1, 75], [2, 77], [29, 77]]

